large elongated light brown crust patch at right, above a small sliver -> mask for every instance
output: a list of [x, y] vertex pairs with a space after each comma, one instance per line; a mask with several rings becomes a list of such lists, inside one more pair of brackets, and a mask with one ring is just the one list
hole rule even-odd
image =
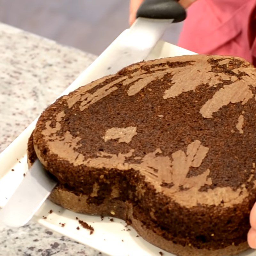
[[215, 92], [212, 99], [207, 100], [200, 109], [200, 114], [205, 118], [211, 118], [212, 114], [221, 107], [237, 102], [244, 105], [252, 97], [250, 87], [243, 80], [238, 80], [233, 84], [224, 85], [223, 88]]

